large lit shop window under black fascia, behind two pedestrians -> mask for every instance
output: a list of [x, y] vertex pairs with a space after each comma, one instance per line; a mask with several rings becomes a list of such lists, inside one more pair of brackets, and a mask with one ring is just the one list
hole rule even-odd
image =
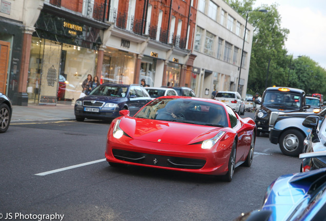
[[95, 50], [32, 37], [29, 103], [73, 104], [88, 74], [95, 76]]

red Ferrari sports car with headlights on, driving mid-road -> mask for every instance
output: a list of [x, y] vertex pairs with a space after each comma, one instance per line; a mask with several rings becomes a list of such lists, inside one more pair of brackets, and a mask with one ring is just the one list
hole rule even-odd
[[135, 116], [120, 111], [107, 136], [105, 156], [111, 166], [130, 164], [222, 175], [231, 181], [240, 164], [250, 166], [256, 125], [223, 102], [166, 96]]

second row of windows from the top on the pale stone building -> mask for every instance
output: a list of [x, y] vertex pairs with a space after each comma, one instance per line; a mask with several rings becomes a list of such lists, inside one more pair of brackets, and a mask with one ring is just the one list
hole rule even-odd
[[[228, 63], [233, 63], [234, 65], [240, 64], [241, 52], [239, 48], [231, 45], [231, 43], [227, 42], [226, 40], [223, 40], [222, 38], [218, 38], [217, 49], [215, 50], [214, 45], [215, 45], [216, 36], [208, 31], [206, 31], [206, 35], [205, 35], [205, 30], [197, 26], [195, 43], [194, 43], [195, 51], [201, 52], [202, 39], [205, 39], [203, 45], [204, 54], [216, 57]], [[215, 51], [216, 54], [214, 53]], [[243, 52], [242, 68], [246, 68], [246, 59], [247, 59], [247, 53]]]

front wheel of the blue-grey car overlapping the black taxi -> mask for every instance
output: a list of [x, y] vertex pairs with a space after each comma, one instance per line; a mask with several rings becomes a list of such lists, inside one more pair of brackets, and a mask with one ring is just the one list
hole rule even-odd
[[296, 129], [289, 129], [280, 136], [279, 147], [283, 154], [298, 157], [302, 153], [304, 136]]

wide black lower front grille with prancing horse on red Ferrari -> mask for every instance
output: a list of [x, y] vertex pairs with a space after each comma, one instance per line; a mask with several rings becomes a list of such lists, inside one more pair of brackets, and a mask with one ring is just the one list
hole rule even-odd
[[161, 167], [200, 169], [206, 163], [206, 160], [200, 159], [170, 157], [120, 149], [112, 149], [112, 153], [118, 160]]

